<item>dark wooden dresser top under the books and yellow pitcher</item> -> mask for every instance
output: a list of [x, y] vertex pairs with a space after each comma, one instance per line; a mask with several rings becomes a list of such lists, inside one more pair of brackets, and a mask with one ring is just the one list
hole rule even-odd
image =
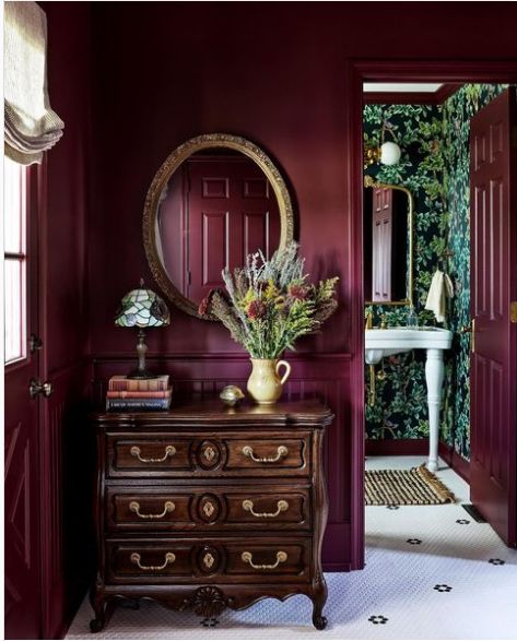
[[218, 397], [177, 402], [173, 400], [173, 406], [168, 412], [105, 412], [94, 414], [94, 419], [102, 425], [124, 423], [163, 425], [197, 424], [203, 425], [317, 425], [325, 427], [333, 418], [328, 407], [317, 400], [280, 402], [274, 405], [256, 405], [251, 402], [243, 402], [236, 407], [227, 407]]

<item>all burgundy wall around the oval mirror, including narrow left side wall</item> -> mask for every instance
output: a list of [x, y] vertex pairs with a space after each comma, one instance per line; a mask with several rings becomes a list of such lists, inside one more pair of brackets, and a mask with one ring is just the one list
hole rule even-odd
[[[244, 135], [277, 159], [292, 188], [308, 271], [341, 275], [340, 311], [321, 335], [301, 342], [289, 392], [322, 393], [337, 413], [326, 460], [326, 566], [361, 567], [353, 530], [361, 531], [362, 507], [353, 498], [362, 439], [354, 442], [351, 422], [359, 424], [363, 404], [362, 242], [353, 232], [361, 214], [351, 206], [350, 183], [359, 185], [362, 171], [359, 150], [354, 155], [348, 142], [360, 127], [351, 114], [349, 62], [515, 60], [516, 9], [493, 2], [468, 12], [462, 3], [444, 9], [437, 2], [40, 4], [51, 103], [66, 121], [64, 138], [48, 154], [42, 274], [44, 369], [56, 389], [43, 435], [51, 453], [42, 473], [45, 637], [62, 631], [92, 568], [84, 508], [91, 435], [79, 404], [89, 356], [97, 379], [128, 367], [134, 336], [116, 330], [113, 316], [141, 275], [151, 284], [141, 235], [145, 192], [168, 153], [203, 132]], [[218, 324], [174, 310], [172, 327], [149, 343], [160, 355], [155, 365], [185, 389], [210, 392], [225, 379], [246, 378], [246, 361]]]

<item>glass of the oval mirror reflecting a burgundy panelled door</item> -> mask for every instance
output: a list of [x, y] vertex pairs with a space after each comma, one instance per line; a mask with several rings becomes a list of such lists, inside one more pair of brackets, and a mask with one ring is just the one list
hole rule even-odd
[[260, 167], [232, 150], [189, 156], [171, 177], [158, 215], [167, 274], [187, 298], [200, 301], [222, 287], [221, 271], [244, 264], [259, 249], [279, 246], [277, 197]]

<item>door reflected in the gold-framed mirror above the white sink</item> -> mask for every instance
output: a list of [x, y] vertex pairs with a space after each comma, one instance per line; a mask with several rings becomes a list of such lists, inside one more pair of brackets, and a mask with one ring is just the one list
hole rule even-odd
[[391, 300], [392, 189], [373, 191], [372, 295], [375, 302]]

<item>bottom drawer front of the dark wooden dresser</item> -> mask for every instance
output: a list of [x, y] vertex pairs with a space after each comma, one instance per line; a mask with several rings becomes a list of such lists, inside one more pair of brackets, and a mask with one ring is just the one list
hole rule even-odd
[[107, 541], [108, 583], [308, 582], [312, 539]]

